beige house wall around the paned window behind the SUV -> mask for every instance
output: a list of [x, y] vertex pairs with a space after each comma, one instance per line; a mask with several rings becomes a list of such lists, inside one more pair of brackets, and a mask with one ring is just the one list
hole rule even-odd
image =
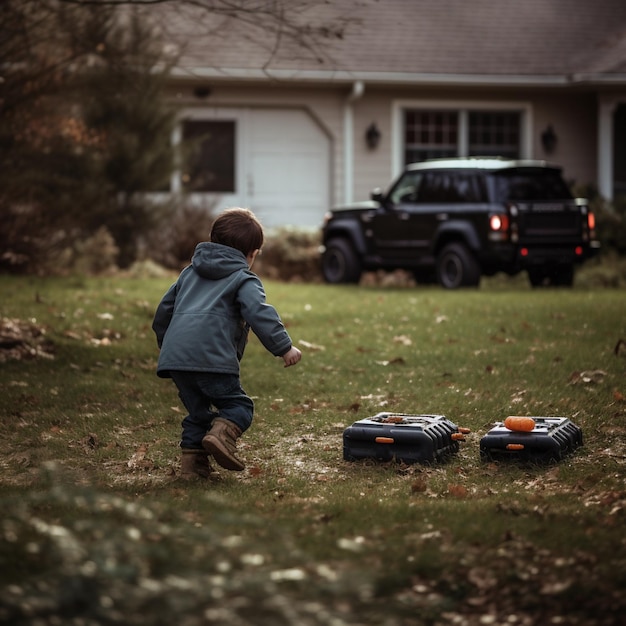
[[[330, 142], [329, 206], [346, 199], [364, 200], [374, 187], [386, 187], [398, 174], [401, 160], [401, 129], [394, 128], [394, 103], [403, 106], [433, 107], [442, 103], [451, 108], [475, 107], [481, 104], [498, 107], [525, 106], [530, 112], [527, 122], [530, 133], [529, 158], [546, 159], [563, 167], [568, 181], [584, 185], [597, 177], [597, 98], [594, 93], [562, 93], [552, 90], [464, 90], [398, 88], [365, 85], [363, 94], [348, 101], [349, 89], [338, 85], [309, 87], [258, 84], [251, 86], [217, 85], [206, 98], [196, 98], [193, 87], [172, 93], [179, 105], [186, 108], [219, 109], [257, 107], [272, 109], [297, 108], [307, 112]], [[352, 179], [346, 181], [346, 150], [344, 145], [345, 107], [352, 107], [353, 137], [348, 157], [353, 159]], [[371, 123], [380, 130], [379, 145], [368, 148], [365, 133]], [[554, 151], [546, 154], [541, 133], [552, 125], [558, 141]], [[279, 129], [278, 131], [279, 132]], [[395, 136], [394, 136], [395, 133]], [[394, 154], [397, 152], [397, 154]], [[395, 163], [395, 165], [394, 165]], [[346, 183], [351, 184], [346, 189]]]

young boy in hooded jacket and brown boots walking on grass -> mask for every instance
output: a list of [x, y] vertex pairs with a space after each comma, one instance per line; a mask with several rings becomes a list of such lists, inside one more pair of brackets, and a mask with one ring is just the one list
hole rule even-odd
[[156, 310], [157, 375], [173, 379], [189, 412], [180, 442], [184, 478], [208, 478], [210, 455], [225, 469], [245, 467], [236, 442], [254, 414], [239, 379], [249, 330], [285, 367], [302, 356], [250, 269], [262, 245], [263, 228], [254, 214], [227, 209]]

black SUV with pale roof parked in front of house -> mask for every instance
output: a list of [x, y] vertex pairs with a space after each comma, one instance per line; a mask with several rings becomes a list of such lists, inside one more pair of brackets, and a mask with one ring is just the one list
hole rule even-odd
[[327, 282], [405, 269], [418, 282], [456, 289], [478, 286], [481, 275], [526, 270], [533, 286], [571, 286], [574, 265], [599, 249], [587, 202], [544, 161], [423, 161], [371, 198], [326, 215]]

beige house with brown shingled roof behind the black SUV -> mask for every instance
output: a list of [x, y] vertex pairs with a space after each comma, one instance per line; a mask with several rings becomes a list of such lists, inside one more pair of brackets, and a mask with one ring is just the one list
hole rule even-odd
[[181, 133], [210, 138], [174, 189], [317, 227], [407, 162], [500, 154], [626, 193], [624, 0], [283, 5], [302, 45], [263, 15], [170, 20]]

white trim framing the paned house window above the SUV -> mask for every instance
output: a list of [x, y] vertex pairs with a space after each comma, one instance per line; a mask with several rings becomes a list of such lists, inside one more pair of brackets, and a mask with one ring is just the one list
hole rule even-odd
[[[464, 111], [486, 110], [486, 111], [520, 111], [522, 113], [520, 129], [520, 158], [532, 158], [532, 137], [533, 137], [533, 110], [530, 102], [511, 102], [498, 100], [394, 100], [391, 103], [391, 177], [395, 178], [403, 169], [402, 146], [402, 112], [405, 109], [444, 109], [454, 110], [461, 113], [461, 123], [467, 127]], [[459, 150], [467, 151], [463, 140], [460, 139]], [[459, 156], [467, 154], [459, 153]]]

